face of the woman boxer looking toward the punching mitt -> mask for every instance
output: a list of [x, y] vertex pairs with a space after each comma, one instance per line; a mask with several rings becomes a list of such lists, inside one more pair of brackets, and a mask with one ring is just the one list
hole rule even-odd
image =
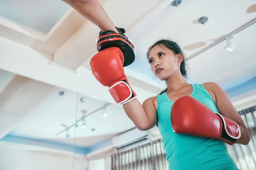
[[160, 79], [166, 80], [175, 73], [180, 73], [181, 53], [175, 54], [163, 44], [154, 46], [148, 55], [151, 71]]

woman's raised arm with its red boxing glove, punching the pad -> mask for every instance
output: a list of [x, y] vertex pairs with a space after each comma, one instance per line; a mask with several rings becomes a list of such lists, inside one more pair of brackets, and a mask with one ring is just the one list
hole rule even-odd
[[94, 77], [108, 87], [110, 95], [117, 104], [123, 105], [135, 126], [139, 130], [153, 128], [157, 121], [157, 97], [150, 97], [140, 104], [124, 73], [123, 62], [124, 54], [121, 49], [110, 47], [95, 54], [90, 65]]

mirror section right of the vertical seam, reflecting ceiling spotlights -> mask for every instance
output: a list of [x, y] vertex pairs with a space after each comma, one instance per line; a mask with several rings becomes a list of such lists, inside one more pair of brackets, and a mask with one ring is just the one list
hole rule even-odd
[[[92, 170], [104, 167], [100, 159], [104, 153], [115, 152], [112, 137], [135, 128], [122, 106], [83, 94], [77, 97], [75, 124], [74, 157], [85, 156]], [[92, 152], [99, 152], [99, 155], [88, 157]], [[74, 169], [79, 166], [80, 162], [74, 161]]]

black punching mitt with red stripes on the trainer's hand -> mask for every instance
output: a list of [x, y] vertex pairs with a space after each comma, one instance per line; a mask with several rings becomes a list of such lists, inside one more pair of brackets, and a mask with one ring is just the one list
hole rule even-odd
[[97, 50], [101, 51], [112, 46], [118, 47], [124, 54], [123, 66], [128, 66], [135, 60], [135, 46], [132, 44], [130, 39], [124, 35], [124, 29], [117, 28], [117, 30], [119, 33], [116, 33], [115, 31], [100, 32]]

